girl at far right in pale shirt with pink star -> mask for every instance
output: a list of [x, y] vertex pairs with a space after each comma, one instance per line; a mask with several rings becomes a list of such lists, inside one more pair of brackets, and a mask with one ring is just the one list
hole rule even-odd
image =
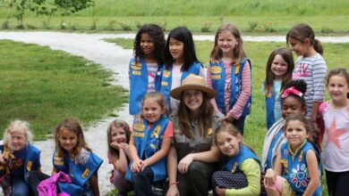
[[[329, 195], [349, 192], [349, 74], [333, 69], [327, 78], [331, 100], [323, 102], [319, 112], [325, 123], [324, 167]], [[322, 110], [322, 111], [321, 111]]]

